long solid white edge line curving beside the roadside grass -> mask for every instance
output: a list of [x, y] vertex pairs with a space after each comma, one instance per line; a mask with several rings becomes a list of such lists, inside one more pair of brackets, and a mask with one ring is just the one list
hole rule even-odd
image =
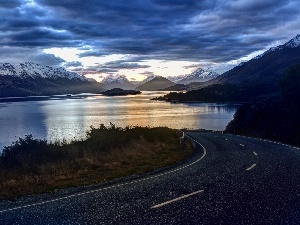
[[194, 161], [194, 162], [192, 162], [188, 165], [179, 167], [175, 170], [171, 170], [171, 171], [168, 171], [168, 172], [165, 172], [165, 173], [161, 173], [161, 174], [158, 174], [158, 175], [155, 175], [155, 176], [143, 178], [143, 179], [136, 180], [136, 181], [129, 181], [129, 182], [126, 182], [126, 183], [123, 183], [123, 184], [117, 184], [117, 185], [113, 185], [113, 186], [109, 186], [109, 187], [105, 187], [105, 188], [95, 189], [95, 190], [92, 190], [92, 191], [85, 191], [85, 192], [81, 192], [81, 193], [77, 193], [77, 194], [73, 194], [73, 195], [68, 195], [68, 196], [61, 197], [61, 198], [55, 198], [55, 199], [47, 200], [47, 201], [43, 201], [43, 202], [38, 202], [38, 203], [33, 203], [33, 204], [28, 204], [28, 205], [23, 205], [23, 206], [17, 206], [17, 207], [10, 208], [10, 209], [4, 209], [4, 210], [1, 210], [0, 213], [13, 211], [13, 210], [17, 210], [17, 209], [29, 208], [29, 207], [32, 207], [32, 206], [43, 205], [43, 204], [46, 204], [46, 203], [57, 202], [57, 201], [60, 201], [60, 200], [65, 200], [65, 199], [69, 199], [69, 198], [73, 198], [73, 197], [92, 194], [92, 193], [96, 193], [96, 192], [100, 192], [100, 191], [104, 191], [104, 190], [108, 190], [108, 189], [112, 189], [112, 188], [122, 187], [122, 186], [125, 186], [125, 185], [128, 185], [128, 184], [138, 183], [138, 182], [141, 182], [141, 181], [145, 181], [145, 180], [149, 180], [149, 179], [152, 179], [152, 178], [157, 178], [157, 177], [161, 177], [161, 176], [164, 176], [164, 175], [167, 175], [167, 174], [171, 174], [171, 173], [177, 172], [179, 170], [183, 170], [187, 167], [190, 167], [190, 166], [198, 163], [200, 160], [202, 160], [206, 156], [206, 148], [202, 144], [200, 144], [198, 141], [191, 138], [189, 135], [187, 135], [187, 134], [185, 134], [185, 135], [188, 136], [191, 140], [198, 143], [203, 148], [203, 155], [199, 159], [197, 159], [196, 161]]

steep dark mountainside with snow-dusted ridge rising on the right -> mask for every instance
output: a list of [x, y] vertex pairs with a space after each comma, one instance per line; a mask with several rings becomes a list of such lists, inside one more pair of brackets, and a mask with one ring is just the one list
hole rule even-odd
[[206, 82], [276, 86], [284, 71], [300, 62], [300, 35]]

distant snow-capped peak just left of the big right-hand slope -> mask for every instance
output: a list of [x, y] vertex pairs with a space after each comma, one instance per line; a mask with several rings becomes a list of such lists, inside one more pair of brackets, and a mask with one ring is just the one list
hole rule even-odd
[[205, 82], [208, 80], [211, 80], [213, 78], [216, 78], [219, 76], [218, 73], [212, 72], [212, 71], [206, 71], [203, 70], [202, 68], [199, 68], [192, 72], [189, 75], [184, 76], [180, 80], [178, 80], [176, 83], [178, 84], [189, 84], [192, 82]]

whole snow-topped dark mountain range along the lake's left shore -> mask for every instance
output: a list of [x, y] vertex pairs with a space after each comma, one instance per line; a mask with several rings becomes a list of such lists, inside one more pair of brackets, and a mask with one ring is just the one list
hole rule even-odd
[[23, 97], [57, 94], [99, 93], [104, 88], [64, 68], [31, 62], [0, 64], [0, 97]]

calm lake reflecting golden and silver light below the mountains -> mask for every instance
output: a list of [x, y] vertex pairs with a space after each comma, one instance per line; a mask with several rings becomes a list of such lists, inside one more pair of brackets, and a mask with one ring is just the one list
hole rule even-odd
[[136, 96], [50, 98], [0, 103], [0, 151], [18, 137], [70, 140], [84, 138], [93, 125], [167, 126], [223, 130], [238, 105], [215, 103], [174, 104], [150, 101], [166, 92], [143, 92]]

